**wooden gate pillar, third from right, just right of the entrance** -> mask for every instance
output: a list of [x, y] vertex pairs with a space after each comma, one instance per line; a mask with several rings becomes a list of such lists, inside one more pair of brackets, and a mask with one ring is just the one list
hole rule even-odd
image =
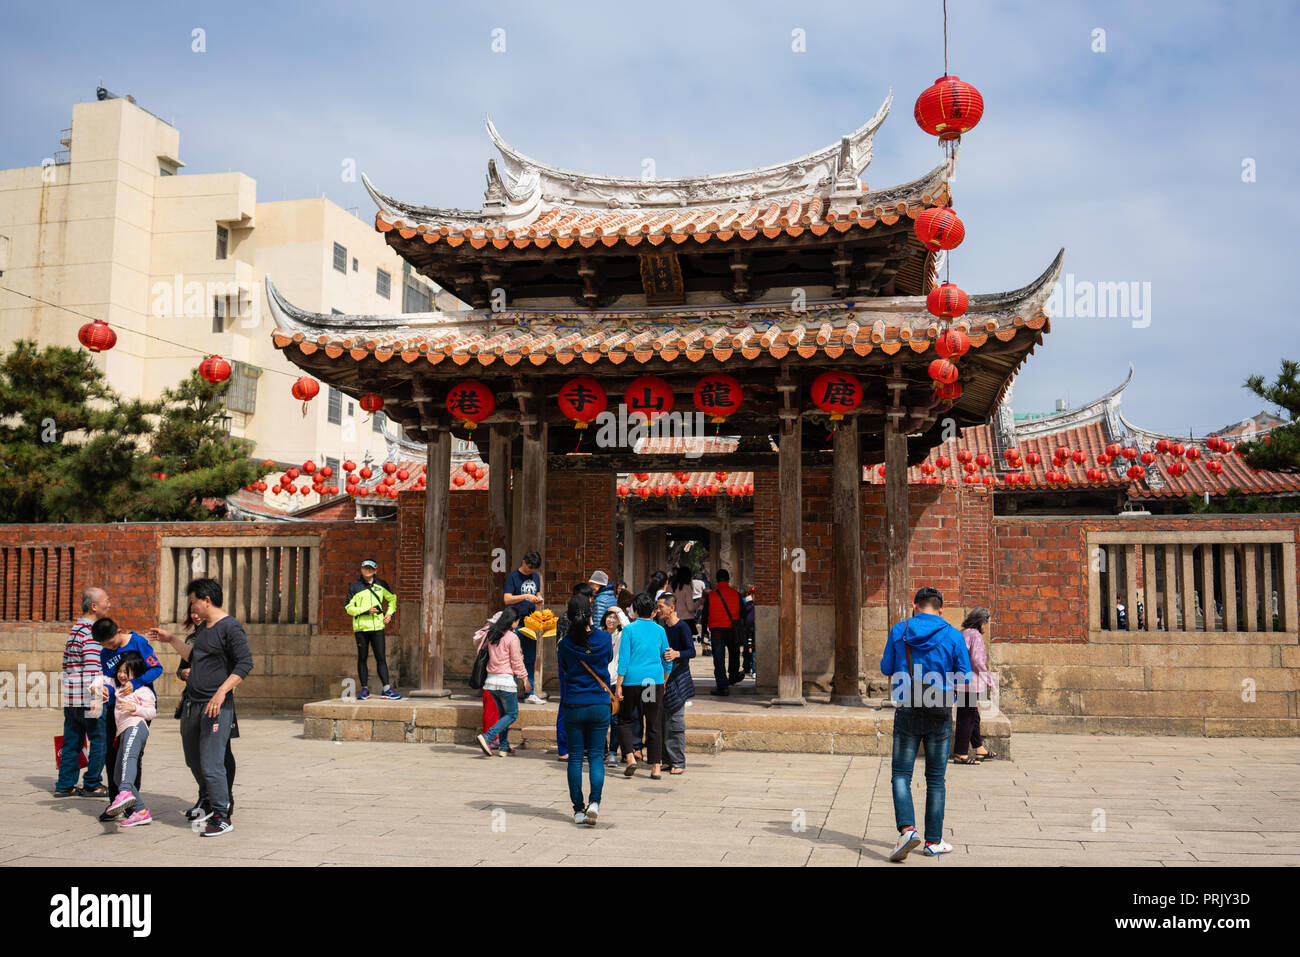
[[777, 557], [781, 563], [777, 605], [776, 698], [774, 705], [803, 702], [803, 429], [797, 386], [783, 382], [789, 395], [781, 410], [777, 449]]

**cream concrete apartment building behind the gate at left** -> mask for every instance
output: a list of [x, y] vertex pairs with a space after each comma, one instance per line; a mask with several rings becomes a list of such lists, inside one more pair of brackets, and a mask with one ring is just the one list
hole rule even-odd
[[118, 393], [150, 399], [218, 354], [234, 367], [230, 433], [259, 458], [382, 462], [382, 413], [329, 386], [306, 415], [290, 395], [302, 372], [272, 345], [264, 280], [321, 312], [460, 303], [412, 274], [372, 222], [324, 198], [259, 203], [243, 173], [182, 174], [176, 127], [100, 98], [73, 107], [55, 157], [0, 170], [0, 343], [75, 346], [103, 319], [118, 338], [95, 361]]

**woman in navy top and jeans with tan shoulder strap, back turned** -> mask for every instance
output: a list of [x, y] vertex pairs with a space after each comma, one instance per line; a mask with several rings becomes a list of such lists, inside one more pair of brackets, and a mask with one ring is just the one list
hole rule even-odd
[[[610, 672], [614, 642], [608, 632], [593, 628], [592, 602], [584, 594], [569, 598], [568, 631], [555, 646], [564, 694], [564, 737], [568, 742], [569, 800], [573, 823], [594, 827], [604, 789], [604, 739], [610, 731], [612, 697], [603, 675]], [[590, 802], [582, 802], [582, 757], [592, 779]]]

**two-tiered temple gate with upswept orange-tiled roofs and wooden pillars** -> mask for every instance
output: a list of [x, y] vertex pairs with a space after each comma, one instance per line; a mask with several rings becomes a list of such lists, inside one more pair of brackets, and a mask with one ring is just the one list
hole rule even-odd
[[[788, 163], [677, 179], [551, 166], [507, 144], [489, 121], [500, 161], [489, 163], [480, 209], [400, 202], [367, 181], [389, 244], [471, 312], [325, 315], [294, 306], [268, 277], [273, 341], [285, 356], [347, 395], [378, 394], [404, 434], [425, 443], [422, 690], [442, 692], [451, 438], [467, 434], [447, 398], [473, 380], [493, 408], [468, 432], [489, 465], [485, 596], [499, 594], [526, 549], [542, 551], [551, 593], [593, 567], [618, 567], [620, 473], [754, 472], [755, 501], [771, 495], [777, 505], [776, 521], [753, 529], [754, 555], [775, 555], [768, 571], [779, 576], [766, 610], [776, 642], [759, 649], [774, 700], [805, 700], [801, 589], [811, 577], [835, 596], [833, 694], [859, 697], [863, 468], [885, 467], [887, 531], [872, 547], [883, 553], [888, 611], [900, 616], [911, 599], [907, 465], [919, 465], [945, 428], [989, 421], [1049, 330], [1044, 307], [1063, 257], [1019, 290], [970, 296], [953, 321], [971, 343], [959, 363], [962, 391], [937, 399], [927, 365], [944, 326], [924, 300], [936, 268], [913, 220], [952, 202], [953, 164], [868, 189], [862, 177], [889, 105]], [[814, 391], [828, 372], [849, 373], [861, 402], [837, 407], [829, 386]], [[595, 425], [594, 437], [578, 436], [559, 403], [567, 384], [589, 377], [611, 413], [624, 398], [625, 423], [629, 412], [689, 410], [711, 373], [733, 377], [744, 393], [718, 424], [725, 451], [688, 458], [670, 445], [642, 454], [636, 442], [646, 437], [629, 439], [621, 426], [612, 439]], [[629, 390], [647, 376], [662, 384], [654, 397], [640, 382]], [[690, 416], [679, 421], [681, 434], [649, 438], [701, 438], [685, 429]], [[822, 472], [835, 542], [814, 568], [805, 562], [802, 495], [805, 480]], [[584, 508], [569, 536], [555, 521], [575, 495]], [[593, 515], [608, 520], [593, 528]], [[486, 555], [497, 549], [511, 560], [489, 575]], [[543, 674], [552, 675], [550, 661]]]

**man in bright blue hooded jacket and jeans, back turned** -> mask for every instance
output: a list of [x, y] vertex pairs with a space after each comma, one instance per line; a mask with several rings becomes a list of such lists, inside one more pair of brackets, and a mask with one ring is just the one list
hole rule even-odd
[[916, 750], [926, 749], [926, 853], [946, 854], [944, 841], [944, 772], [953, 737], [953, 700], [957, 683], [971, 679], [970, 655], [962, 633], [939, 616], [944, 597], [923, 588], [913, 599], [913, 616], [889, 629], [880, 674], [889, 679], [894, 736], [892, 781], [898, 844], [890, 861], [902, 861], [920, 840], [911, 805], [911, 771]]

